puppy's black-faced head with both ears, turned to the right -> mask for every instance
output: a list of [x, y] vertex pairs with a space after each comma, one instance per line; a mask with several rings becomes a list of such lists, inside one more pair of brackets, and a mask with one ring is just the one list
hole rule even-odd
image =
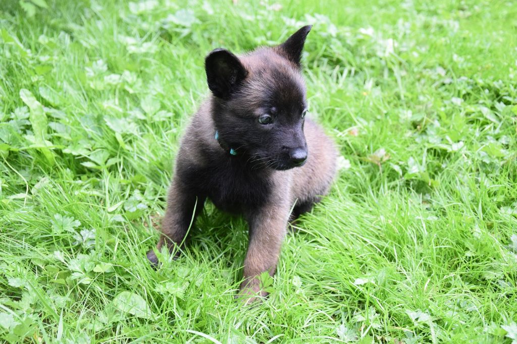
[[310, 29], [304, 26], [280, 45], [241, 57], [225, 49], [206, 57], [219, 138], [254, 166], [283, 170], [307, 159], [300, 59]]

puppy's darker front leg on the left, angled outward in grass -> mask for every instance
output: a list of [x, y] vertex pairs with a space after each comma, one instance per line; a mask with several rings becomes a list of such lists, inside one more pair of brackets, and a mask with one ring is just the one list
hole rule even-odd
[[[195, 217], [203, 209], [205, 197], [196, 195], [189, 190], [184, 181], [175, 177], [167, 198], [167, 209], [162, 221], [162, 235], [158, 242], [158, 251], [166, 244], [172, 251], [174, 245], [180, 245], [185, 239], [192, 217]], [[156, 254], [151, 250], [147, 253], [147, 258], [152, 265], [158, 263]]]

